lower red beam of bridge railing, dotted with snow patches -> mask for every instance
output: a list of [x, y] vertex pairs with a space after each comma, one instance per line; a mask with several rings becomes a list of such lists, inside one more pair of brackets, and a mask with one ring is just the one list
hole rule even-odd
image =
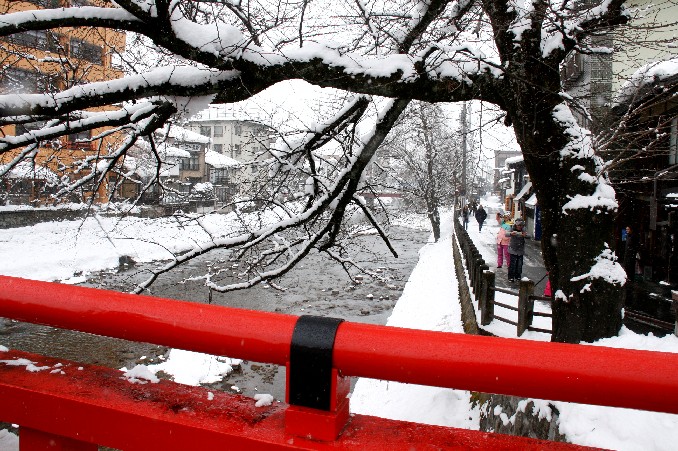
[[[46, 368], [26, 371], [24, 365], [2, 363], [17, 359]], [[319, 442], [285, 433], [285, 404], [257, 408], [241, 395], [216, 390], [210, 395], [208, 389], [166, 380], [132, 384], [121, 376], [99, 366], [0, 352], [0, 421], [21, 425], [22, 450], [96, 449], [91, 443], [126, 451], [590, 449], [364, 415], [351, 416], [336, 441]]]

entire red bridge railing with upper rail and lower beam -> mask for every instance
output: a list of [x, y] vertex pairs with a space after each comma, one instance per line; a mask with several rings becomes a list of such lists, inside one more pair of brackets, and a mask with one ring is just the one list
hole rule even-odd
[[[1, 317], [288, 366], [287, 402], [292, 405], [255, 408], [240, 395], [208, 393], [170, 381], [131, 384], [112, 369], [0, 352], [0, 421], [20, 425], [22, 450], [56, 449], [45, 445], [50, 443], [64, 444], [61, 449], [97, 449], [96, 443], [119, 449], [213, 449], [226, 444], [384, 449], [393, 444], [416, 448], [422, 440], [433, 448], [545, 446], [521, 437], [349, 416], [350, 376], [678, 413], [678, 355], [670, 353], [351, 322], [323, 329], [311, 321], [302, 333], [302, 321], [291, 315], [11, 277], [0, 277], [0, 287]], [[329, 404], [308, 407], [290, 399], [290, 386], [295, 385], [290, 374], [302, 365], [295, 363], [294, 353], [301, 349], [305, 355], [297, 358], [306, 365], [297, 373], [316, 374], [326, 350], [314, 349], [314, 343], [323, 341], [330, 352], [325, 381]], [[313, 360], [318, 357], [314, 353], [319, 360]], [[27, 371], [28, 361], [43, 371]], [[297, 392], [304, 391], [299, 380], [296, 385]], [[551, 449], [572, 447], [546, 443]]]

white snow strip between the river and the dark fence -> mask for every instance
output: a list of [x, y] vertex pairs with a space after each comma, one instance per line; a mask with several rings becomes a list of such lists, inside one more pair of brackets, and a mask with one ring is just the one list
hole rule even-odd
[[[458, 285], [454, 277], [451, 216], [443, 217], [441, 239], [419, 251], [419, 263], [387, 325], [463, 333]], [[351, 411], [396, 420], [466, 429], [479, 428], [479, 412], [470, 393], [360, 378], [351, 395]]]

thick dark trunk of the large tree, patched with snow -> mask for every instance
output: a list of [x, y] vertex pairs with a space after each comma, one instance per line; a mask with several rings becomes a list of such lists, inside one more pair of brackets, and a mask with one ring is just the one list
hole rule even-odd
[[513, 87], [521, 94], [509, 114], [542, 210], [542, 251], [555, 293], [552, 340], [617, 335], [625, 276], [612, 253], [614, 190], [558, 91], [521, 85]]

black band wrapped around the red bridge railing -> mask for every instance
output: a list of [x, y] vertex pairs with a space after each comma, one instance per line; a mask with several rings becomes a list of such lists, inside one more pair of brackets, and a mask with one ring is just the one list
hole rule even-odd
[[332, 351], [342, 321], [312, 315], [297, 320], [290, 345], [291, 405], [330, 410]]

